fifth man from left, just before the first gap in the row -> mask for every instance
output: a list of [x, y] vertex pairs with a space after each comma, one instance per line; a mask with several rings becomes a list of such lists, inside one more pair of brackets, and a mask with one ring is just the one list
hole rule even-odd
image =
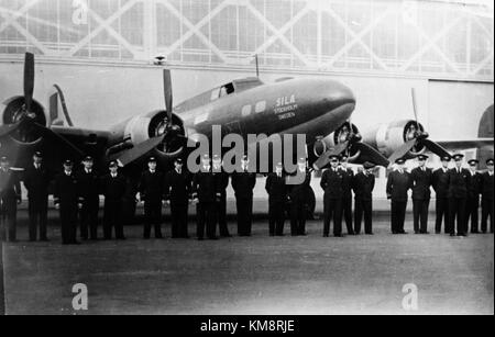
[[116, 228], [116, 238], [125, 239], [123, 233], [122, 199], [125, 195], [125, 177], [119, 172], [117, 161], [110, 161], [109, 172], [101, 178], [101, 193], [105, 196], [103, 206], [103, 237], [112, 238], [112, 228]]

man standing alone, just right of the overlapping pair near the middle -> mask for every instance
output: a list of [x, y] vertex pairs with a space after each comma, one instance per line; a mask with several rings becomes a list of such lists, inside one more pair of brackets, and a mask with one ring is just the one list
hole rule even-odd
[[248, 156], [242, 157], [241, 172], [232, 173], [232, 188], [238, 209], [238, 235], [251, 236], [253, 222], [253, 189], [256, 184], [256, 173], [250, 172]]

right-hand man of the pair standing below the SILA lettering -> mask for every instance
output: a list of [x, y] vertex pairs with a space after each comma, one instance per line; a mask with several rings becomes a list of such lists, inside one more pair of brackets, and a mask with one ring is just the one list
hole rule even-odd
[[308, 190], [311, 183], [311, 172], [308, 170], [306, 158], [299, 158], [295, 177], [305, 177], [300, 183], [292, 183], [293, 179], [287, 178], [287, 189], [290, 204], [290, 235], [306, 235], [306, 216], [308, 214]]

